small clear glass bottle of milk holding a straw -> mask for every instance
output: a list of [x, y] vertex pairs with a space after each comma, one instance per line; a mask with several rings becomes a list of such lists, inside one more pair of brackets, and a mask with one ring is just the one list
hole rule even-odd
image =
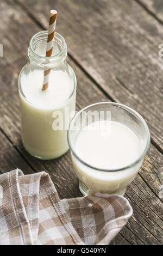
[[[66, 62], [67, 45], [57, 32], [53, 53], [46, 55], [48, 31], [29, 42], [28, 63], [18, 78], [22, 143], [39, 159], [54, 159], [68, 150], [67, 128], [76, 106], [76, 75]], [[42, 90], [43, 74], [51, 69], [48, 88]]]

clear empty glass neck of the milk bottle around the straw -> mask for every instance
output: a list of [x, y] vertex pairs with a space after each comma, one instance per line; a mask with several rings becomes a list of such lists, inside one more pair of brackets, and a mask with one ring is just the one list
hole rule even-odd
[[35, 34], [29, 42], [28, 56], [30, 61], [42, 68], [53, 68], [64, 63], [67, 56], [67, 45], [65, 39], [55, 32], [53, 53], [46, 57], [46, 42], [48, 31], [41, 31]]

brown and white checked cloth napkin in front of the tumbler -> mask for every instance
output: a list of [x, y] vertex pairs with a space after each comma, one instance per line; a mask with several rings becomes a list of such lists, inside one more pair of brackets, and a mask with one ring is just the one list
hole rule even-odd
[[0, 185], [0, 245], [108, 245], [133, 214], [113, 194], [60, 200], [45, 172], [12, 170]]

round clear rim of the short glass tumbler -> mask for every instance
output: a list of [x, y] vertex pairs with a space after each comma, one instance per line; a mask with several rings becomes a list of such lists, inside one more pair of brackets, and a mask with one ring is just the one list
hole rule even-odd
[[[137, 118], [139, 118], [139, 120], [141, 121], [141, 123], [143, 124], [143, 126], [145, 127], [145, 130], [146, 130], [146, 133], [147, 133], [147, 143], [146, 143], [146, 147], [145, 149], [143, 150], [143, 152], [141, 153], [141, 155], [139, 157], [137, 157], [137, 159], [134, 161], [134, 162], [131, 162], [130, 164], [128, 164], [127, 166], [124, 166], [122, 168], [116, 168], [116, 169], [106, 169], [106, 168], [97, 168], [95, 166], [92, 166], [91, 164], [85, 162], [84, 160], [82, 160], [77, 154], [76, 152], [73, 150], [73, 147], [72, 147], [72, 143], [71, 143], [71, 139], [70, 139], [70, 131], [71, 131], [71, 125], [73, 123], [73, 121], [82, 113], [84, 112], [86, 109], [90, 108], [90, 107], [93, 107], [93, 106], [98, 106], [98, 105], [104, 105], [104, 104], [107, 104], [107, 105], [114, 105], [114, 106], [117, 106], [117, 107], [121, 107], [123, 109], [126, 109], [128, 112], [130, 112], [131, 114], [134, 114]], [[116, 103], [116, 102], [108, 102], [108, 101], [104, 101], [104, 102], [97, 102], [97, 103], [93, 103], [89, 106], [86, 106], [84, 108], [82, 108], [76, 115], [74, 115], [74, 117], [71, 119], [70, 121], [70, 124], [68, 126], [68, 131], [67, 131], [67, 141], [68, 141], [68, 145], [70, 147], [70, 150], [72, 152], [72, 154], [76, 157], [76, 159], [83, 163], [85, 166], [91, 168], [91, 169], [95, 169], [95, 170], [99, 170], [101, 172], [118, 172], [118, 171], [121, 171], [121, 170], [125, 170], [125, 169], [128, 169], [130, 167], [133, 167], [135, 164], [139, 163], [143, 157], [145, 157], [148, 149], [149, 149], [149, 145], [150, 145], [150, 142], [151, 142], [151, 136], [150, 136], [150, 132], [149, 132], [149, 129], [148, 129], [148, 125], [145, 121], [145, 119], [143, 119], [143, 117], [138, 113], [136, 112], [133, 108], [130, 108], [126, 105], [123, 105], [121, 103]]]

